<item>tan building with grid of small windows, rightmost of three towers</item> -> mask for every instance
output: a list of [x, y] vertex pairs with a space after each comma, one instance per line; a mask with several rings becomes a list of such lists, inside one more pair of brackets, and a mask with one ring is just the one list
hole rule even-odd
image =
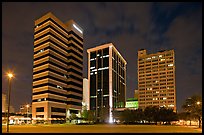
[[139, 108], [149, 105], [176, 111], [174, 50], [147, 54], [138, 51]]

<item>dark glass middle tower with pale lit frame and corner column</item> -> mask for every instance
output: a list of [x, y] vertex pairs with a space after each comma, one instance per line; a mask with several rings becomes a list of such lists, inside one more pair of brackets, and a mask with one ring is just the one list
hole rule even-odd
[[125, 107], [126, 61], [112, 43], [87, 50], [90, 110], [112, 122], [112, 110]]

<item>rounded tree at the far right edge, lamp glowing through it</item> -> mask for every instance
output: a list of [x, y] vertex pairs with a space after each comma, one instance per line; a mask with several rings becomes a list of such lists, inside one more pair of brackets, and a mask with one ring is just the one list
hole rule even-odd
[[182, 105], [182, 108], [185, 112], [191, 114], [191, 116], [198, 120], [199, 128], [201, 128], [202, 120], [202, 97], [199, 95], [193, 95], [190, 98], [187, 98]]

